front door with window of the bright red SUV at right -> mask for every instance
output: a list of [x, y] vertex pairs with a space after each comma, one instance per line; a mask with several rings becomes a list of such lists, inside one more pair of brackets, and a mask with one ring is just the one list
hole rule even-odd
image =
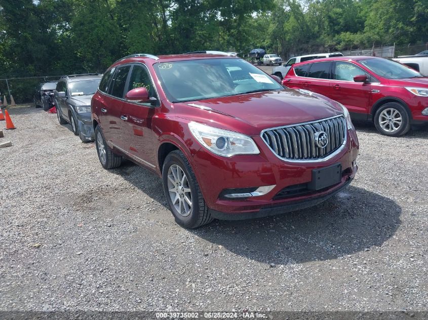
[[333, 78], [331, 80], [331, 90], [327, 97], [343, 104], [353, 118], [367, 119], [370, 98], [371, 84], [355, 82], [356, 75], [366, 75], [370, 79], [370, 74], [354, 63], [347, 61], [335, 61], [333, 66]]

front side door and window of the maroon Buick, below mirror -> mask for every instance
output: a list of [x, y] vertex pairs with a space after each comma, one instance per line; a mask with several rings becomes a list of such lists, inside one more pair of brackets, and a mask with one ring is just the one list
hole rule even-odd
[[[134, 64], [130, 72], [125, 93], [129, 90], [145, 87], [150, 98], [159, 101], [152, 83], [150, 74], [144, 64]], [[155, 113], [155, 105], [125, 101], [121, 111], [124, 149], [136, 158], [151, 167], [154, 167], [155, 156], [152, 143], [151, 121]]]

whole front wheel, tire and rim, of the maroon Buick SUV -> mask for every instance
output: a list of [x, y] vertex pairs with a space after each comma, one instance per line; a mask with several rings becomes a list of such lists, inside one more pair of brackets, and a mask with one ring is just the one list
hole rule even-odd
[[[181, 170], [181, 176], [178, 170]], [[176, 175], [178, 175], [177, 178], [175, 177]], [[213, 220], [202, 196], [196, 176], [186, 156], [181, 151], [175, 150], [167, 155], [162, 168], [162, 181], [165, 198], [178, 224], [186, 228], [197, 228]], [[181, 186], [181, 182], [178, 182], [180, 185], [177, 186], [177, 181], [183, 182], [183, 186]], [[178, 189], [175, 189], [176, 187]], [[175, 190], [170, 191], [172, 189]], [[186, 192], [186, 189], [189, 191]], [[178, 203], [173, 203], [173, 198], [177, 199]], [[188, 200], [190, 200], [190, 205]]]

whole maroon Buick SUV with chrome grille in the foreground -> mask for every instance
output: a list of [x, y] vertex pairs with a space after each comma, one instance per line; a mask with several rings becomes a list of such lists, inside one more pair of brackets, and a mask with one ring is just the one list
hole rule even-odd
[[357, 172], [346, 108], [239, 58], [121, 59], [91, 108], [101, 165], [118, 167], [125, 156], [159, 174], [185, 227], [314, 206]]

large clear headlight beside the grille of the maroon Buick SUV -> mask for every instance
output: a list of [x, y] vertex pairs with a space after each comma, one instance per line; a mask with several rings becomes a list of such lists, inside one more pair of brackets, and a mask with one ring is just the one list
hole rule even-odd
[[211, 152], [231, 157], [238, 154], [259, 154], [253, 139], [245, 134], [210, 127], [198, 122], [189, 122], [190, 132]]

